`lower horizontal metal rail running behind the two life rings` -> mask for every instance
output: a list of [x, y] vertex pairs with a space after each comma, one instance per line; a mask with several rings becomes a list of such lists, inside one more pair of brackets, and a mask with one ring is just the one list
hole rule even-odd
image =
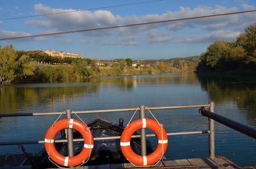
[[[208, 130], [203, 131], [184, 131], [184, 132], [176, 132], [176, 133], [167, 133], [168, 136], [176, 136], [176, 135], [198, 135], [198, 134], [207, 134], [209, 133]], [[147, 137], [156, 136], [155, 134], [148, 134]], [[120, 139], [121, 136], [103, 136], [103, 137], [96, 137], [93, 140], [115, 140]], [[140, 138], [140, 135], [132, 135], [132, 138]], [[73, 142], [83, 142], [83, 138], [74, 138]], [[66, 143], [67, 140], [55, 140], [55, 143]], [[44, 143], [44, 140], [39, 141], [28, 141], [28, 142], [8, 142], [8, 143], [0, 143], [0, 145], [19, 145], [19, 144], [36, 144], [36, 143]]]

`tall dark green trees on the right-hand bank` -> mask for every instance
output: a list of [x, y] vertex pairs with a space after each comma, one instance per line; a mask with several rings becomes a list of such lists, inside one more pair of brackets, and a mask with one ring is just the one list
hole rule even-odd
[[256, 23], [246, 27], [236, 41], [214, 41], [200, 55], [197, 71], [227, 71], [256, 68]]

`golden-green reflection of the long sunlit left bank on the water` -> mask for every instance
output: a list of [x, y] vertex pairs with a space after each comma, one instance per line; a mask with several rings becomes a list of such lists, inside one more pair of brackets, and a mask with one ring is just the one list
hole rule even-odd
[[139, 85], [198, 84], [194, 73], [166, 73], [127, 77], [91, 78], [73, 84], [24, 84], [0, 86], [0, 114], [19, 112], [20, 108], [68, 103], [90, 92], [115, 87], [131, 91]]

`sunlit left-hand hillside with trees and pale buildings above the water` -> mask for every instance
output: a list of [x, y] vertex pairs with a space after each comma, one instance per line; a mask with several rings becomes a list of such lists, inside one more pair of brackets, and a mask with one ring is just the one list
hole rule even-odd
[[11, 82], [76, 82], [92, 77], [150, 75], [195, 71], [199, 57], [132, 61], [96, 60], [83, 55], [54, 50], [15, 51], [12, 45], [0, 48], [4, 64], [0, 84]]

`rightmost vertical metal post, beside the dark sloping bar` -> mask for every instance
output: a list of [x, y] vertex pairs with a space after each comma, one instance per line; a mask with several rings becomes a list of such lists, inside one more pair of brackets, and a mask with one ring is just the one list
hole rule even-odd
[[[209, 111], [214, 113], [214, 102], [210, 102]], [[215, 129], [214, 120], [208, 118], [209, 121], [209, 158], [215, 158]]]

